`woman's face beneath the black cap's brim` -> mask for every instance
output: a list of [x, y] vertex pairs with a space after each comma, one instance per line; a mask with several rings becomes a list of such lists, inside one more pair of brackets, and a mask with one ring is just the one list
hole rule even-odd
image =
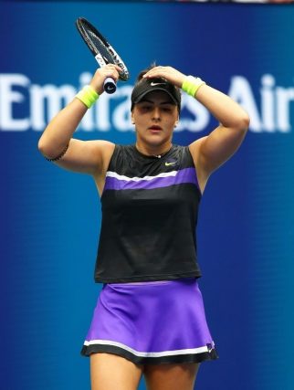
[[154, 90], [134, 105], [131, 120], [136, 127], [138, 142], [158, 146], [172, 140], [179, 112], [166, 92]]

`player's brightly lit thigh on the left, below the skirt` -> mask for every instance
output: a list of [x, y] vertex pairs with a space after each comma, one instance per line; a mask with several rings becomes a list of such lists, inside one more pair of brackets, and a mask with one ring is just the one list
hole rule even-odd
[[143, 366], [111, 353], [90, 355], [91, 390], [136, 390]]

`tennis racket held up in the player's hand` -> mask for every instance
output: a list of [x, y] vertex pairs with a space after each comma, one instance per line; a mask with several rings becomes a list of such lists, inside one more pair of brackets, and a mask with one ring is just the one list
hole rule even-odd
[[[118, 65], [121, 68], [121, 71], [119, 72], [120, 79], [122, 81], [129, 79], [129, 70], [121, 60], [121, 57], [114, 48], [110, 46], [110, 43], [106, 40], [106, 38], [100, 34], [97, 28], [92, 26], [84, 17], [79, 17], [76, 20], [76, 26], [79, 34], [89, 47], [100, 67], [104, 67], [107, 64]], [[114, 93], [116, 91], [116, 83], [114, 79], [105, 79], [104, 90], [107, 93]]]

